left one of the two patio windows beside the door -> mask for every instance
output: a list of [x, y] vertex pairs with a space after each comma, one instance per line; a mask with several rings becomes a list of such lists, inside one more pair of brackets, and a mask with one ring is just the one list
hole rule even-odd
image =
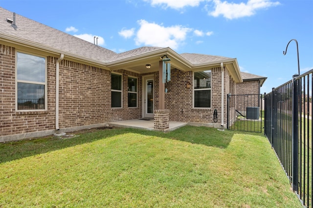
[[111, 74], [111, 107], [122, 108], [122, 76]]

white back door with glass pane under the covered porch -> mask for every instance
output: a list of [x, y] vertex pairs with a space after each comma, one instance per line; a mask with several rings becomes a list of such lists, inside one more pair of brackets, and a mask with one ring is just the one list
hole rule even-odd
[[152, 77], [144, 78], [144, 99], [143, 99], [143, 116], [153, 118], [154, 116], [154, 79]]

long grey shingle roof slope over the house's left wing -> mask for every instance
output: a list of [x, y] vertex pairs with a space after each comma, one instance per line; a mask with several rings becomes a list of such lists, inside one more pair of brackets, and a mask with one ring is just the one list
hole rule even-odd
[[60, 30], [46, 26], [16, 14], [16, 27], [6, 19], [13, 20], [13, 13], [0, 7], [0, 33], [27, 40], [45, 47], [74, 54], [91, 60], [108, 62], [116, 53], [106, 48], [94, 45], [86, 40], [71, 36]]

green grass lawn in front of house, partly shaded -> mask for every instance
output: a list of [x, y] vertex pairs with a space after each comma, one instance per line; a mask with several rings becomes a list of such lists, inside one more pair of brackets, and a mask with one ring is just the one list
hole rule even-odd
[[263, 133], [75, 134], [0, 144], [0, 208], [302, 208]]

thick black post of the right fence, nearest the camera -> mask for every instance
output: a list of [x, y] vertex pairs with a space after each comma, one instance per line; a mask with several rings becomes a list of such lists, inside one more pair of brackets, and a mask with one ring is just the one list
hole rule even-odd
[[298, 80], [296, 77], [299, 75], [292, 76], [292, 189], [298, 192]]

